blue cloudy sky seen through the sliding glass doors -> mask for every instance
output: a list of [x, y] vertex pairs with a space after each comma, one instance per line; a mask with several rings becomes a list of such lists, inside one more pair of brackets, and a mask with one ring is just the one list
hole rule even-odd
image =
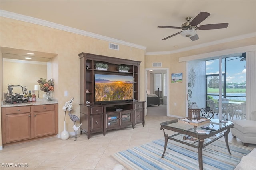
[[[245, 68], [246, 61], [240, 61], [240, 60], [241, 60], [240, 57], [226, 58], [226, 83], [246, 82], [246, 68]], [[224, 61], [224, 59], [222, 59], [222, 61]], [[218, 73], [219, 73], [219, 60], [215, 59], [215, 60], [206, 61], [206, 74], [218, 74]]]

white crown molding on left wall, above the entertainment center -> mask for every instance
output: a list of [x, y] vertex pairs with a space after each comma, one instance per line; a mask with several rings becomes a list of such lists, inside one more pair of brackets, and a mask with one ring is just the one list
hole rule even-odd
[[13, 12], [8, 12], [8, 11], [5, 11], [5, 10], [0, 10], [0, 16], [6, 17], [6, 18], [11, 18], [11, 19], [14, 19], [14, 20], [29, 22], [29, 23], [32, 23], [32, 24], [38, 24], [38, 25], [46, 26], [46, 27], [50, 27], [50, 28], [55, 28], [55, 29], [62, 30], [62, 31], [72, 32], [72, 33], [75, 33], [75, 34], [79, 34], [79, 35], [82, 35], [82, 36], [88, 36], [88, 37], [96, 38], [96, 39], [99, 39], [99, 40], [118, 43], [118, 44], [121, 44], [121, 45], [127, 45], [129, 47], [142, 49], [144, 51], [146, 50], [146, 47], [144, 47], [142, 45], [137, 45], [137, 44], [134, 44], [134, 43], [125, 42], [125, 41], [122, 41], [122, 40], [117, 40], [117, 39], [114, 39], [114, 38], [102, 36], [102, 35], [99, 35], [99, 34], [94, 34], [94, 33], [91, 33], [91, 32], [79, 30], [79, 29], [76, 29], [76, 28], [68, 27], [68, 26], [63, 26], [63, 25], [56, 24], [56, 23], [53, 23], [53, 22], [48, 22], [48, 21], [41, 20], [41, 19], [38, 19], [38, 18], [33, 18], [33, 17], [30, 17], [30, 16], [25, 16], [25, 15], [16, 14], [16, 13], [13, 13]]

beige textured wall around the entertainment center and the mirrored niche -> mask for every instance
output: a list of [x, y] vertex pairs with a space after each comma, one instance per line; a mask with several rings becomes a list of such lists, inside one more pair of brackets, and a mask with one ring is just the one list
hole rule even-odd
[[[103, 40], [81, 36], [62, 30], [48, 28], [28, 22], [1, 17], [1, 47], [25, 49], [47, 53], [56, 53], [52, 59], [52, 77], [55, 81], [53, 97], [58, 99], [58, 133], [64, 128], [66, 101], [74, 97], [72, 114], [79, 114], [79, 57], [81, 52], [142, 61], [140, 65], [140, 85], [144, 87], [144, 50], [119, 45], [119, 51], [108, 48]], [[115, 43], [116, 44], [116, 43]], [[1, 61], [2, 62], [2, 61]], [[1, 65], [2, 72], [2, 65]], [[36, 77], [37, 79], [38, 77]], [[37, 82], [35, 81], [35, 84]], [[1, 84], [2, 86], [2, 84]], [[0, 88], [2, 89], [2, 87]], [[68, 91], [68, 96], [64, 96]], [[2, 92], [2, 91], [1, 91]], [[140, 91], [140, 100], [144, 101], [144, 91]], [[67, 130], [73, 132], [72, 121], [66, 115]], [[67, 121], [68, 120], [68, 121]], [[1, 132], [1, 130], [0, 130]], [[0, 142], [0, 145], [2, 142]]]

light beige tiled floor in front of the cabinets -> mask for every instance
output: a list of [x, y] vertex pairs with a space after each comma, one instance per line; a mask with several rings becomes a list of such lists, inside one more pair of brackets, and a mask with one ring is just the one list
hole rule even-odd
[[[119, 164], [112, 158], [112, 154], [163, 138], [160, 123], [171, 119], [174, 118], [146, 116], [144, 127], [138, 124], [134, 129], [127, 127], [107, 131], [105, 136], [102, 133], [93, 134], [89, 140], [85, 134], [79, 134], [77, 141], [74, 141], [74, 138], [61, 140], [52, 137], [5, 146], [0, 152], [0, 169], [17, 169], [4, 168], [3, 163], [23, 163], [24, 166], [28, 164], [28, 168], [18, 168], [19, 170], [112, 170], [116, 164]], [[171, 132], [168, 134], [170, 135]], [[228, 140], [231, 143], [241, 144], [239, 139], [232, 138], [231, 133]], [[255, 145], [249, 145], [249, 147], [255, 147]]]

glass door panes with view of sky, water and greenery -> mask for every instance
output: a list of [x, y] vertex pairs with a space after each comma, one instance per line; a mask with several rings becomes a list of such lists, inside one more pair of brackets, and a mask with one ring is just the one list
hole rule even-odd
[[[246, 101], [246, 58], [243, 56], [222, 59], [222, 98], [229, 101]], [[219, 99], [219, 59], [206, 61], [206, 96], [215, 102]]]

